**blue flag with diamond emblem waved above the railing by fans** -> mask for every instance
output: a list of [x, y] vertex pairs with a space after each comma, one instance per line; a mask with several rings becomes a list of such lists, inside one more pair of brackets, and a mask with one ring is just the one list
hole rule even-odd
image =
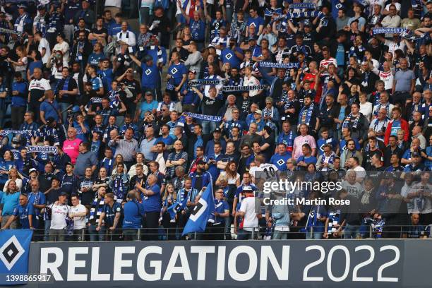
[[197, 205], [193, 208], [191, 216], [183, 229], [181, 236], [193, 232], [204, 232], [207, 226], [210, 215], [215, 212], [215, 198], [213, 197], [212, 183], [208, 184], [207, 188], [198, 200]]

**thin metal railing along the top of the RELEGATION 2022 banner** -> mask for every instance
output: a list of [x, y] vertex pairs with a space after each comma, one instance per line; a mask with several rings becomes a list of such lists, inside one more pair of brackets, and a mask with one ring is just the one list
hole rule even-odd
[[[341, 231], [323, 226], [315, 227], [244, 227], [235, 229], [233, 225], [225, 227], [208, 227], [205, 232], [193, 232], [181, 236], [182, 227], [158, 227], [138, 229], [100, 229], [85, 227], [78, 230], [33, 229], [32, 241], [164, 241], [164, 240], [235, 240], [254, 239], [405, 239], [431, 238], [431, 227], [421, 225], [386, 225], [377, 229], [371, 225], [349, 225]], [[246, 236], [245, 236], [246, 235]]]

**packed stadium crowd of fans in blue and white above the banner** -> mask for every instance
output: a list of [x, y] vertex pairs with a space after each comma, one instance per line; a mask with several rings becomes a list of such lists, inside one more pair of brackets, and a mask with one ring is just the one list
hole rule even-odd
[[[431, 1], [137, 2], [2, 2], [1, 229], [431, 236]], [[280, 179], [341, 189], [273, 198], [351, 204], [263, 206]], [[205, 233], [181, 236], [209, 184]]]

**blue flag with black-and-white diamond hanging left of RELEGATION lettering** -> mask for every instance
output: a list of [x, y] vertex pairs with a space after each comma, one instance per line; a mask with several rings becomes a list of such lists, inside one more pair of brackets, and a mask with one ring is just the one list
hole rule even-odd
[[8, 279], [7, 275], [28, 275], [28, 254], [32, 234], [30, 229], [0, 232], [0, 286], [27, 283], [18, 280], [20, 277]]

